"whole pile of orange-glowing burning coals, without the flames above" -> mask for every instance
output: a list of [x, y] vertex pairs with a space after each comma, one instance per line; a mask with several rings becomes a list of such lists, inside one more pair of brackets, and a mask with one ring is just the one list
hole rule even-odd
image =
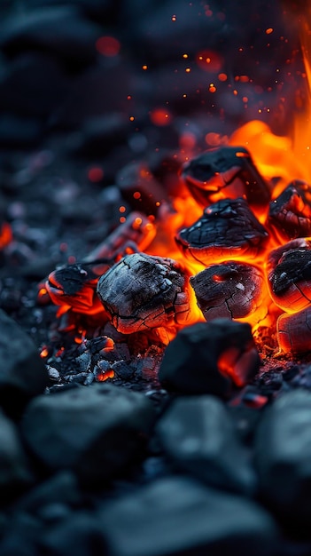
[[[274, 137], [257, 125], [264, 139]], [[99, 314], [123, 334], [164, 329], [174, 338], [186, 324], [225, 317], [249, 322], [253, 332], [268, 325], [282, 352], [306, 350], [307, 182], [282, 189], [280, 177], [273, 188], [245, 147], [207, 151], [183, 165], [182, 179], [187, 195], [162, 202], [156, 217], [133, 212], [82, 263], [51, 273], [51, 300]]]

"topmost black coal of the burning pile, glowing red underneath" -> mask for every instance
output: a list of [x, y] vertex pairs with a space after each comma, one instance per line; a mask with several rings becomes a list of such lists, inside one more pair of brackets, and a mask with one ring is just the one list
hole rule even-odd
[[268, 183], [244, 147], [211, 149], [187, 163], [182, 175], [202, 207], [220, 199], [244, 196], [255, 212], [262, 213], [270, 200]]

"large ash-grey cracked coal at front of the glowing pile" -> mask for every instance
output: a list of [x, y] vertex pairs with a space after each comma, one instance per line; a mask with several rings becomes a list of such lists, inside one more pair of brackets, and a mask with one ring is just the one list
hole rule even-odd
[[172, 258], [134, 253], [101, 276], [97, 294], [113, 326], [130, 334], [188, 322], [187, 286], [187, 274]]

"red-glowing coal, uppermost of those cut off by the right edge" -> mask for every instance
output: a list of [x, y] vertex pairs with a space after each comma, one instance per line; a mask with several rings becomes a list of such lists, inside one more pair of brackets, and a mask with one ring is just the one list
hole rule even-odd
[[311, 187], [295, 180], [271, 201], [268, 212], [271, 226], [280, 242], [311, 235]]

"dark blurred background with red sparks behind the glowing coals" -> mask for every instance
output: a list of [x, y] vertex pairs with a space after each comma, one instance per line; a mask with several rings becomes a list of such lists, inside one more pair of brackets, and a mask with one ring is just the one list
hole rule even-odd
[[1, 0], [0, 306], [130, 210], [155, 215], [183, 161], [241, 124], [287, 133], [307, 98], [301, 6]]

